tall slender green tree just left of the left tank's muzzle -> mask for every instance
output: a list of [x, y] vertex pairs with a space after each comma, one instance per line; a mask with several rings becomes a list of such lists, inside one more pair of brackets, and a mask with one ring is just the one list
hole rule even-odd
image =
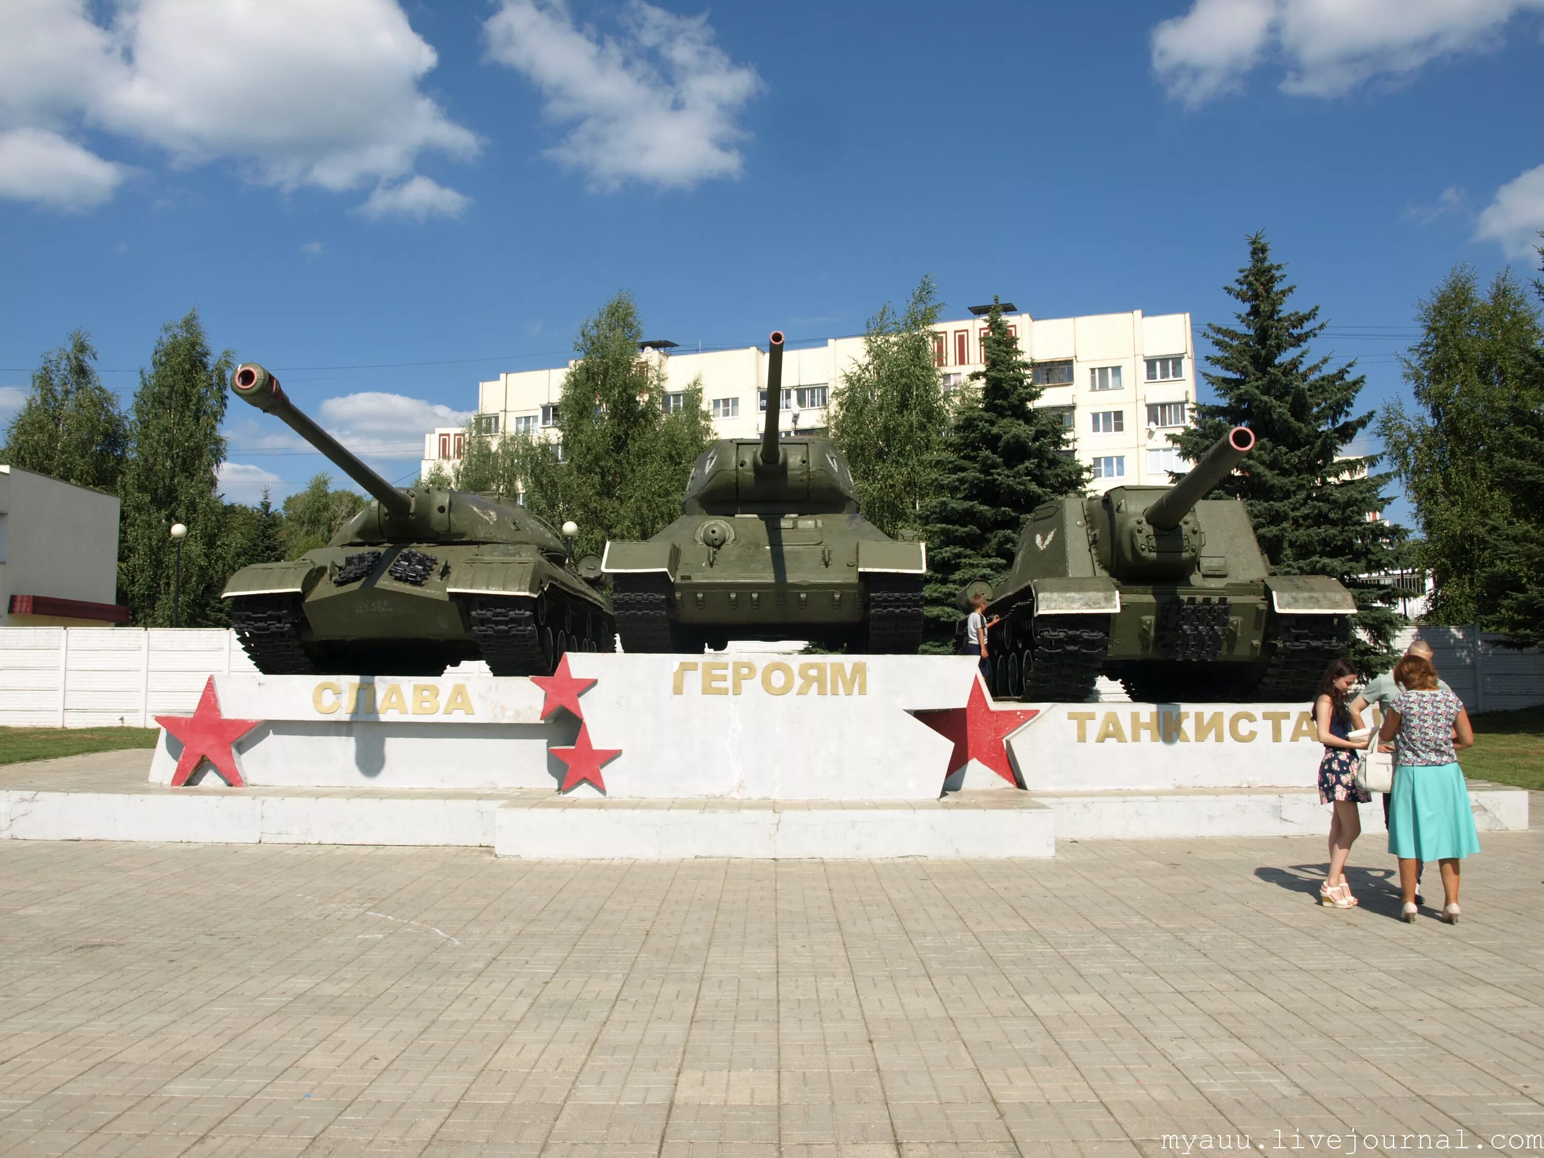
[[188, 528], [182, 543], [182, 625], [227, 621], [219, 602], [225, 581], [224, 503], [216, 471], [225, 459], [219, 423], [230, 369], [230, 350], [213, 357], [198, 310], [188, 310], [162, 327], [150, 371], [139, 372], [119, 488], [119, 598], [136, 624], [171, 624], [174, 550], [168, 531], [178, 522]]

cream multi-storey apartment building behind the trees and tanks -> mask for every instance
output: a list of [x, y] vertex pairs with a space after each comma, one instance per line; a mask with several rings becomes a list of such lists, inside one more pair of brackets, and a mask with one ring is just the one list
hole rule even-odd
[[[1055, 411], [1073, 432], [1075, 454], [1093, 468], [1092, 489], [1121, 483], [1166, 483], [1180, 469], [1169, 434], [1184, 426], [1195, 405], [1195, 347], [1189, 313], [1144, 317], [1096, 313], [1082, 318], [1005, 315], [1019, 349], [1034, 363], [1044, 389], [1038, 408]], [[943, 389], [956, 389], [982, 369], [984, 315], [939, 323], [934, 358]], [[703, 405], [724, 438], [760, 437], [766, 425], [767, 355], [757, 346], [689, 350], [650, 343], [642, 357], [665, 371], [665, 406], [686, 403], [686, 388], [701, 377]], [[826, 426], [831, 391], [863, 358], [863, 338], [800, 340], [789, 334], [783, 355], [783, 437]], [[500, 374], [479, 384], [479, 434], [531, 432], [556, 437], [557, 398], [568, 367]], [[425, 435], [423, 471], [454, 465], [465, 432], [438, 428]]]

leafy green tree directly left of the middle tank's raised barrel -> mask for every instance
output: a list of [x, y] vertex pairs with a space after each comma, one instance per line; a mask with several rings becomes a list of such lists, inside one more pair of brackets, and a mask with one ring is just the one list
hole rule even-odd
[[557, 401], [560, 443], [506, 435], [506, 493], [519, 480], [525, 505], [551, 527], [579, 523], [577, 551], [607, 539], [647, 539], [679, 514], [692, 463], [713, 428], [701, 381], [665, 391], [661, 361], [641, 358], [642, 324], [625, 290], [579, 329], [579, 360]]

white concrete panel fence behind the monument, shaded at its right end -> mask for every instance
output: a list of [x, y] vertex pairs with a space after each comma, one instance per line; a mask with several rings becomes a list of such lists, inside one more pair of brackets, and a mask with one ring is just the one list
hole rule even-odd
[[[1400, 647], [1416, 635], [1471, 712], [1544, 704], [1544, 653], [1473, 627], [1411, 628]], [[0, 627], [0, 726], [154, 727], [157, 712], [191, 712], [208, 676], [253, 670], [221, 628]]]

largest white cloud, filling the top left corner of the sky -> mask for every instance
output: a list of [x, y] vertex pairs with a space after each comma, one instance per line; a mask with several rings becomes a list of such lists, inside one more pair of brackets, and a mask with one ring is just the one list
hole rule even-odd
[[397, 0], [113, 0], [105, 11], [110, 23], [96, 23], [85, 0], [6, 0], [0, 130], [100, 128], [178, 165], [235, 162], [283, 190], [403, 181], [423, 153], [477, 151], [420, 91], [435, 52]]

